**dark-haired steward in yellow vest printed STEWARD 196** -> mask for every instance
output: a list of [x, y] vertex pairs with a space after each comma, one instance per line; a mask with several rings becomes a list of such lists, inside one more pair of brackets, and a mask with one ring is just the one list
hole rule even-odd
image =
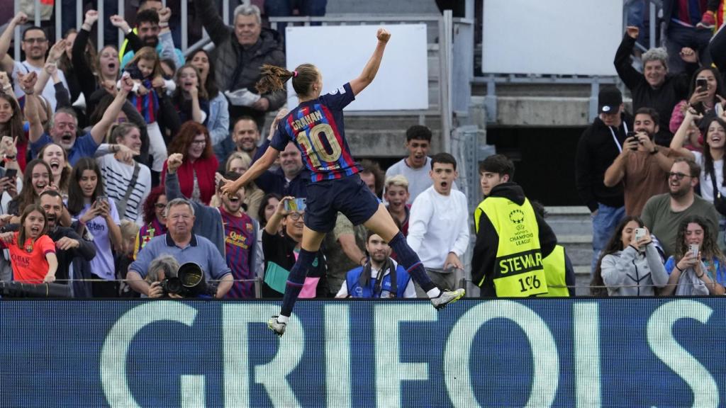
[[503, 155], [479, 167], [484, 200], [474, 211], [472, 280], [486, 297], [523, 298], [548, 293], [543, 259], [557, 245], [522, 188], [510, 182], [514, 164]]

